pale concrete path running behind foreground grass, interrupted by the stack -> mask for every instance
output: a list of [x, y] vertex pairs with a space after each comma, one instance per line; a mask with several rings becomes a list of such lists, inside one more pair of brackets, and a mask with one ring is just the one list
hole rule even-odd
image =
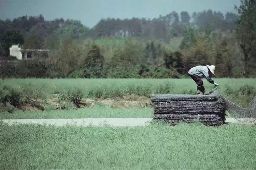
[[[115, 127], [124, 126], [145, 126], [152, 118], [87, 118], [87, 119], [5, 119], [2, 120], [5, 123], [38, 123], [38, 124], [55, 124], [56, 126], [62, 126], [68, 124], [76, 124], [82, 126], [103, 126], [110, 125]], [[238, 123], [233, 118], [226, 118], [226, 123]]]

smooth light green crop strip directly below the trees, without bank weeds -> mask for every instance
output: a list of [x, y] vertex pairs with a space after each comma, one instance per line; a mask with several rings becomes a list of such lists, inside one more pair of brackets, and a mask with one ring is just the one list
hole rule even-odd
[[[223, 95], [238, 94], [245, 85], [255, 87], [256, 79], [213, 79], [220, 84]], [[213, 84], [203, 79], [206, 90]], [[69, 89], [80, 89], [85, 97], [114, 97], [118, 95], [195, 94], [192, 79], [5, 79], [11, 83], [45, 95], [57, 94]], [[254, 92], [254, 91], [253, 91]]]

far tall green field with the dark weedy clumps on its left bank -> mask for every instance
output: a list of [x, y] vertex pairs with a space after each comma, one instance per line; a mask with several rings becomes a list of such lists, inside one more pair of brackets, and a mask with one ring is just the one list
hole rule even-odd
[[[256, 79], [214, 80], [221, 85], [219, 90], [223, 96], [242, 107], [248, 107], [256, 95]], [[214, 87], [206, 80], [204, 85], [206, 91]], [[192, 79], [5, 79], [0, 81], [0, 94], [4, 95], [0, 95], [0, 106], [10, 110], [9, 112], [13, 111], [13, 108], [8, 106], [13, 105], [12, 103], [20, 107], [29, 104], [43, 109], [43, 103], [54, 94], [59, 94], [74, 104], [82, 104], [83, 98], [114, 98], [126, 95], [151, 97], [155, 94], [195, 95], [196, 87]]]

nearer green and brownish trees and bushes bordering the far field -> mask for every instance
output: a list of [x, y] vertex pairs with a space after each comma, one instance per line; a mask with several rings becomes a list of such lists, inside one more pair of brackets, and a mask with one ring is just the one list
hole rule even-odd
[[51, 52], [50, 61], [34, 58], [4, 64], [0, 75], [2, 78], [181, 78], [191, 67], [215, 64], [219, 68], [217, 77], [241, 77], [243, 67], [238, 66], [243, 61], [239, 51], [234, 55], [233, 39], [209, 39], [208, 34], [195, 39], [193, 46], [179, 51], [170, 50], [159, 41], [133, 38], [124, 39], [124, 45], [117, 47], [100, 44], [99, 40], [65, 39], [59, 49]]

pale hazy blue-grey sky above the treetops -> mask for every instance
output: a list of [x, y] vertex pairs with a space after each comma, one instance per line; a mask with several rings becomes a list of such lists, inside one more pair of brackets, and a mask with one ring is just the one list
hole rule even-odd
[[38, 16], [45, 20], [64, 18], [80, 20], [93, 27], [101, 18], [154, 18], [172, 11], [236, 12], [234, 4], [240, 0], [0, 0], [0, 19], [13, 19], [22, 15]]

